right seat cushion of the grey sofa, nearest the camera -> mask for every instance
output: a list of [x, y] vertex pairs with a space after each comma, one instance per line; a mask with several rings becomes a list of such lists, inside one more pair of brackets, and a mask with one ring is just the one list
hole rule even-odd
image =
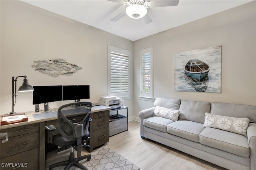
[[199, 135], [199, 142], [245, 158], [250, 155], [248, 139], [241, 134], [206, 127]]

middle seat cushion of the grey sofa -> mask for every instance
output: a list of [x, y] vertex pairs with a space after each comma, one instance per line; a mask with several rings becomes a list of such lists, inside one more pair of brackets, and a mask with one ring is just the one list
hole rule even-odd
[[167, 125], [167, 133], [174, 134], [181, 138], [199, 142], [199, 134], [204, 130], [202, 123], [178, 120], [177, 122]]

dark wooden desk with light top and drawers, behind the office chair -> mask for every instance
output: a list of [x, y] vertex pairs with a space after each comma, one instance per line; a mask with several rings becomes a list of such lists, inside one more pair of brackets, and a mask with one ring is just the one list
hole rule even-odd
[[[90, 118], [90, 150], [109, 141], [109, 110], [110, 107], [94, 106]], [[34, 114], [42, 114], [42, 119], [35, 119]], [[24, 168], [45, 170], [46, 125], [56, 125], [56, 117], [44, 118], [47, 113], [27, 112], [28, 121], [0, 126], [0, 133], [8, 133], [8, 141], [2, 143], [1, 163], [22, 164]], [[41, 115], [40, 115], [41, 116]], [[74, 116], [80, 119], [81, 115]], [[14, 167], [11, 167], [11, 169]], [[5, 169], [1, 167], [1, 170]], [[6, 167], [6, 169], [10, 169]], [[22, 169], [22, 168], [20, 168]]]

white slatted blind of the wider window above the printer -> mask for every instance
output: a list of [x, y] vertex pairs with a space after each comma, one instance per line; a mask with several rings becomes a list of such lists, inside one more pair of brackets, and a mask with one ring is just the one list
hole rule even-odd
[[110, 92], [129, 92], [129, 56], [110, 53]]

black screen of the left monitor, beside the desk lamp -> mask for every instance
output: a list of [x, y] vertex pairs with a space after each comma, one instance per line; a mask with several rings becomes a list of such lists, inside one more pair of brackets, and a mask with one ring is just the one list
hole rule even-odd
[[33, 105], [62, 101], [62, 85], [33, 87]]

